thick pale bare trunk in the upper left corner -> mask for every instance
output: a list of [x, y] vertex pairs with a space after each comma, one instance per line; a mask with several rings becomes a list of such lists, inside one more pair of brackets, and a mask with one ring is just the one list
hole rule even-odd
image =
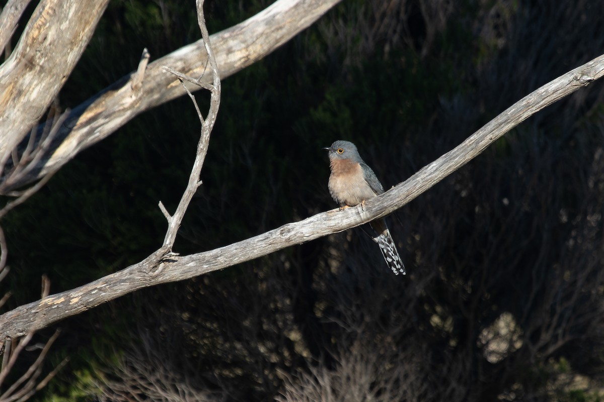
[[[109, 0], [43, 0], [0, 66], [0, 163], [30, 132], [67, 80]], [[22, 3], [5, 17], [20, 14]], [[10, 13], [9, 11], [15, 12]], [[14, 24], [14, 21], [12, 22]], [[13, 29], [4, 27], [3, 29]]]

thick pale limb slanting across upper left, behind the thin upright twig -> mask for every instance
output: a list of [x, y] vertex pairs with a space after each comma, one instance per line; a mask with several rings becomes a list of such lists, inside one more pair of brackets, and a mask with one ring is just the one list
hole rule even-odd
[[[210, 43], [216, 55], [220, 77], [226, 78], [262, 59], [309, 27], [339, 1], [278, 0], [241, 24], [213, 34]], [[204, 74], [206, 60], [204, 44], [199, 40], [150, 63], [143, 71], [144, 77], [132, 72], [68, 111], [56, 140], [44, 157], [31, 169], [30, 174], [16, 180], [2, 178], [0, 194], [57, 171], [82, 149], [109, 136], [139, 113], [183, 95], [178, 80], [162, 70], [161, 66], [168, 66], [190, 77], [199, 77]], [[57, 76], [53, 81], [62, 81], [65, 77]], [[135, 85], [137, 80], [140, 86]], [[211, 83], [211, 74], [206, 74], [204, 80]], [[197, 88], [191, 87], [191, 90]], [[42, 111], [37, 111], [35, 115], [27, 110], [24, 110], [25, 114], [19, 111], [20, 120], [31, 124]], [[19, 127], [21, 125], [22, 122]], [[13, 138], [13, 134], [9, 134], [14, 133], [14, 129], [12, 121], [4, 122], [0, 118], [0, 136], [4, 136], [0, 137], [0, 157], [6, 152], [10, 153], [22, 138]]]

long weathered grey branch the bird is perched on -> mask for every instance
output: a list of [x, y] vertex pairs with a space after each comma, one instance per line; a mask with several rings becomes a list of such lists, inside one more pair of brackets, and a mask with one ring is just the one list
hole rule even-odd
[[[386, 216], [477, 157], [487, 146], [537, 111], [603, 75], [604, 55], [545, 84], [507, 108], [455, 149], [425, 166], [404, 183], [368, 200], [363, 209], [357, 206], [342, 211], [323, 212], [251, 239], [190, 256], [172, 256], [168, 260], [162, 259], [165, 251], [158, 251], [143, 262], [122, 271], [3, 314], [0, 316], [0, 342], [7, 337], [14, 338], [28, 331], [47, 327], [60, 319], [144, 287], [216, 271]], [[410, 274], [413, 275], [413, 272]], [[401, 277], [400, 280], [405, 278]]]

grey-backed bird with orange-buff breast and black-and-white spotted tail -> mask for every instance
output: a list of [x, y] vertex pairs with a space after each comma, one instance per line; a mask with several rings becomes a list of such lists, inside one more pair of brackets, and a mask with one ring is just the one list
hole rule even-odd
[[[331, 146], [323, 149], [327, 149], [331, 169], [329, 193], [339, 204], [341, 210], [364, 204], [367, 199], [384, 193], [382, 183], [367, 163], [361, 159], [355, 144], [350, 141], [337, 140]], [[405, 265], [400, 259], [384, 218], [375, 219], [369, 224], [375, 231], [371, 239], [379, 245], [388, 268], [395, 275], [405, 275]]]

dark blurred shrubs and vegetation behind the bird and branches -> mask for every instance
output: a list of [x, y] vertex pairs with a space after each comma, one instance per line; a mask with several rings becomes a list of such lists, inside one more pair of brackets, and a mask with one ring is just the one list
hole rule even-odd
[[[210, 33], [270, 3], [208, 0]], [[384, 187], [400, 183], [602, 54], [602, 15], [601, 0], [342, 1], [223, 81], [175, 251], [335, 207], [321, 147], [336, 139], [355, 142]], [[60, 105], [135, 69], [144, 47], [153, 59], [200, 36], [192, 1], [114, 0]], [[602, 400], [603, 89], [551, 105], [399, 210], [391, 232], [406, 277], [354, 229], [146, 289], [60, 322], [46, 368], [71, 360], [35, 398]], [[183, 96], [82, 152], [11, 212], [7, 308], [36, 300], [43, 274], [56, 293], [156, 250], [158, 201], [176, 206], [198, 136]]]

